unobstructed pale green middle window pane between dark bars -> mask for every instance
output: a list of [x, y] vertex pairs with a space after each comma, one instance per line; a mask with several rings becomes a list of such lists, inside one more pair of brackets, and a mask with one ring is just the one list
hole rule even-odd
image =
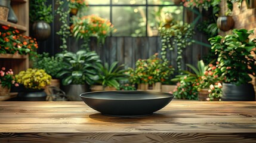
[[146, 36], [145, 7], [113, 7], [113, 36]]

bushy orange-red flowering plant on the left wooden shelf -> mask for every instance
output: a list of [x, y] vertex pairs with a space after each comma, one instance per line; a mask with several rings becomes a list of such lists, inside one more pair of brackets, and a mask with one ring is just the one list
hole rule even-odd
[[0, 54], [30, 54], [35, 55], [38, 43], [36, 39], [20, 35], [16, 28], [1, 26]]

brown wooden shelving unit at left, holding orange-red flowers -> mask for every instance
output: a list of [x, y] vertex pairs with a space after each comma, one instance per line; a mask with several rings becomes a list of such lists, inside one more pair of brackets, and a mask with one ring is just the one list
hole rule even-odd
[[[18, 23], [0, 20], [0, 25], [16, 27], [22, 35], [29, 36], [29, 0], [11, 0], [11, 7]], [[29, 68], [28, 55], [0, 54], [0, 68], [13, 69], [14, 74]]]

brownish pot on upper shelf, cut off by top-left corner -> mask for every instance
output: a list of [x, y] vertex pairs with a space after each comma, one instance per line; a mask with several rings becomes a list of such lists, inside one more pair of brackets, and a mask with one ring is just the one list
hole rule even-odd
[[1, 0], [0, 1], [0, 20], [7, 21], [8, 13], [10, 11], [10, 0]]

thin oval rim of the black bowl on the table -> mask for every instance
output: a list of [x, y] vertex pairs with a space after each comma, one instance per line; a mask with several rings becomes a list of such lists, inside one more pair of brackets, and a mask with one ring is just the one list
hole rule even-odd
[[[110, 99], [110, 98], [93, 98], [93, 97], [84, 97], [83, 95], [85, 94], [94, 94], [94, 93], [101, 93], [101, 92], [152, 92], [152, 93], [158, 93], [158, 94], [165, 94], [165, 95], [169, 95], [166, 97], [158, 97], [158, 98], [146, 98], [146, 99], [135, 99], [135, 98], [131, 98], [131, 99], [122, 99], [122, 98], [115, 98], [115, 99]], [[135, 101], [135, 100], [160, 100], [160, 99], [165, 99], [165, 98], [174, 98], [174, 95], [168, 92], [159, 92], [159, 91], [92, 91], [92, 92], [84, 92], [82, 94], [79, 95], [81, 98], [87, 98], [87, 99], [94, 99], [94, 100], [113, 100], [113, 101], [117, 101], [117, 100], [121, 100], [121, 101]]]

